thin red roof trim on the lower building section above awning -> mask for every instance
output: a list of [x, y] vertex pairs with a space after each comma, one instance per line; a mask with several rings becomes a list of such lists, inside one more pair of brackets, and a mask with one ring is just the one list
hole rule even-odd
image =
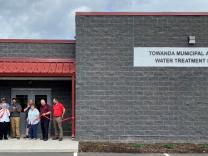
[[53, 43], [74, 44], [75, 40], [49, 40], [49, 39], [0, 39], [0, 43]]

